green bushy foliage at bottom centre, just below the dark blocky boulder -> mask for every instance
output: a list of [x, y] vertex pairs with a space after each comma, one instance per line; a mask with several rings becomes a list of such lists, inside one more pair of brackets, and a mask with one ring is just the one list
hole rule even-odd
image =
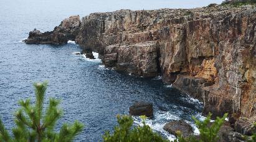
[[117, 116], [118, 126], [115, 126], [113, 134], [107, 131], [103, 135], [105, 142], [153, 142], [153, 141], [168, 141], [162, 138], [158, 133], [153, 132], [151, 128], [145, 124], [146, 116], [141, 116], [143, 119], [143, 126], [133, 126], [133, 119], [131, 116]]

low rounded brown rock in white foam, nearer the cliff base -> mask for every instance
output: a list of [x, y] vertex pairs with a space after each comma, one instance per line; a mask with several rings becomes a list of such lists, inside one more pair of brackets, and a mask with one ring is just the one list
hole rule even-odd
[[177, 131], [180, 131], [181, 135], [184, 137], [191, 136], [193, 133], [192, 126], [190, 126], [184, 120], [170, 121], [164, 125], [164, 130], [175, 136], [177, 136]]

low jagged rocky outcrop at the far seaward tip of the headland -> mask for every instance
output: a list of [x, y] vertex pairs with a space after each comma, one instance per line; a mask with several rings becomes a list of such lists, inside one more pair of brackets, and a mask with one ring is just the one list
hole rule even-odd
[[40, 32], [36, 29], [29, 32], [29, 37], [24, 40], [26, 44], [67, 44], [68, 40], [75, 40], [81, 26], [79, 16], [70, 16], [51, 32]]

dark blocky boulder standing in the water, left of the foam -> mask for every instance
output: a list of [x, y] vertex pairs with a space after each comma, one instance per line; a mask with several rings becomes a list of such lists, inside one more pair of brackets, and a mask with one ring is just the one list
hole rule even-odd
[[151, 118], [153, 117], [153, 103], [136, 102], [130, 107], [129, 113], [134, 116], [145, 115]]

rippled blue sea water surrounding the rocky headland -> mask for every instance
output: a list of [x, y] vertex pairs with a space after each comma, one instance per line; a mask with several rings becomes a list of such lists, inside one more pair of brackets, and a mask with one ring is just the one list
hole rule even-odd
[[[112, 131], [116, 125], [116, 115], [128, 114], [128, 108], [136, 101], [153, 103], [154, 118], [146, 123], [169, 139], [173, 136], [163, 130], [168, 121], [184, 119], [194, 126], [191, 116], [202, 117], [202, 103], [164, 84], [159, 77], [141, 78], [105, 69], [100, 60], [73, 54], [82, 51], [77, 44], [26, 45], [21, 42], [32, 29], [50, 31], [70, 15], [171, 7], [166, 6], [168, 1], [165, 0], [138, 4], [115, 0], [1, 0], [0, 117], [6, 128], [11, 131], [15, 126], [17, 102], [35, 99], [32, 83], [44, 80], [49, 81], [45, 103], [49, 97], [59, 98], [64, 108], [64, 116], [58, 121], [56, 130], [64, 122], [79, 120], [84, 123], [85, 128], [75, 141], [102, 141], [104, 131]], [[136, 125], [140, 124], [139, 118], [134, 119]]]

